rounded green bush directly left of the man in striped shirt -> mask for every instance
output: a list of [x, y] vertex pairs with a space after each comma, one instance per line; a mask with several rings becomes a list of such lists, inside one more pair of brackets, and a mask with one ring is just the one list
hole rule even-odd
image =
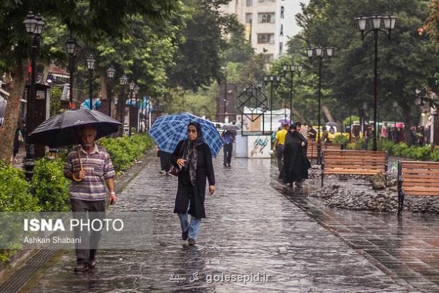
[[33, 172], [31, 188], [43, 211], [68, 211], [70, 180], [64, 176], [63, 160], [37, 160]]

